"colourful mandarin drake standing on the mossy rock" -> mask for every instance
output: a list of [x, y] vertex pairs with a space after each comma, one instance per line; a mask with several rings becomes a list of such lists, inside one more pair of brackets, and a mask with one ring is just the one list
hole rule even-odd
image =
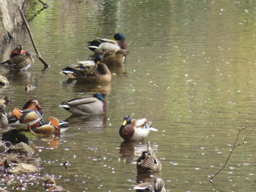
[[34, 132], [31, 130], [30, 125], [33, 125], [36, 122], [38, 122], [43, 116], [43, 111], [39, 104], [36, 105], [36, 110], [31, 110], [31, 109], [20, 110], [19, 108], [16, 107], [12, 111], [12, 113], [14, 116], [8, 119], [8, 123], [10, 125], [20, 125], [24, 127], [28, 126], [28, 129], [32, 133]]

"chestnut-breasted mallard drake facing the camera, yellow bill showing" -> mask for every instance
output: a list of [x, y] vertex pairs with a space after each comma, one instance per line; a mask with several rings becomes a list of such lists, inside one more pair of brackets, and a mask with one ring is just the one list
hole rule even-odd
[[119, 135], [127, 141], [141, 140], [148, 136], [150, 130], [157, 131], [151, 127], [152, 121], [147, 119], [132, 119], [129, 115], [124, 116], [124, 122], [119, 129]]

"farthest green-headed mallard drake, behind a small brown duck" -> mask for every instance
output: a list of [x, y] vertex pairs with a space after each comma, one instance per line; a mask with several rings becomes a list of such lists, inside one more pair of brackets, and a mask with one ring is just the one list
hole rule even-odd
[[[96, 54], [104, 54], [111, 49], [119, 50], [119, 49], [126, 49], [126, 45], [124, 43], [125, 37], [122, 33], [116, 33], [114, 37], [110, 39], [101, 39], [94, 37], [95, 40], [92, 42], [88, 42], [87, 48], [93, 51]], [[120, 42], [123, 40], [123, 42]]]

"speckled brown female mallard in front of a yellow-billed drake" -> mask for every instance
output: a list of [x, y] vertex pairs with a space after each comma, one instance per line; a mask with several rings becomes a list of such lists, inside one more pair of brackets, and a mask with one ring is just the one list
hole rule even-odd
[[98, 57], [95, 68], [72, 69], [64, 68], [62, 73], [69, 78], [76, 78], [79, 82], [84, 83], [108, 83], [111, 81], [111, 73], [108, 67], [101, 63], [102, 57]]

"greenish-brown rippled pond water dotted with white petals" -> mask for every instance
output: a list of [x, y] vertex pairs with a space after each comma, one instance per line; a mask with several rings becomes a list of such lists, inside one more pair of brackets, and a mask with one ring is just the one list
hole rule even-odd
[[[35, 58], [27, 72], [1, 68], [10, 84], [0, 94], [15, 100], [7, 111], [35, 98], [45, 122], [54, 116], [72, 125], [54, 137], [39, 135], [31, 163], [41, 176], [70, 191], [135, 191], [129, 188], [150, 180], [132, 163], [149, 140], [162, 162], [154, 176], [167, 191], [255, 191], [256, 130], [208, 181], [224, 166], [238, 129], [256, 124], [255, 1], [47, 0], [40, 13], [42, 4], [30, 4], [28, 23], [50, 67], [44, 70]], [[125, 35], [129, 55], [124, 66], [111, 69], [109, 84], [70, 83], [60, 74], [78, 60], [93, 60], [86, 49], [92, 37], [117, 32]], [[1, 48], [1, 61], [16, 44], [33, 50], [25, 27]], [[25, 92], [27, 84], [36, 89]], [[108, 101], [106, 116], [72, 116], [59, 107], [95, 92]], [[123, 142], [119, 128], [126, 114], [152, 120], [158, 132]], [[237, 144], [253, 128], [242, 131]], [[66, 160], [68, 169], [60, 165]], [[45, 191], [41, 179], [23, 183], [27, 191]]]

